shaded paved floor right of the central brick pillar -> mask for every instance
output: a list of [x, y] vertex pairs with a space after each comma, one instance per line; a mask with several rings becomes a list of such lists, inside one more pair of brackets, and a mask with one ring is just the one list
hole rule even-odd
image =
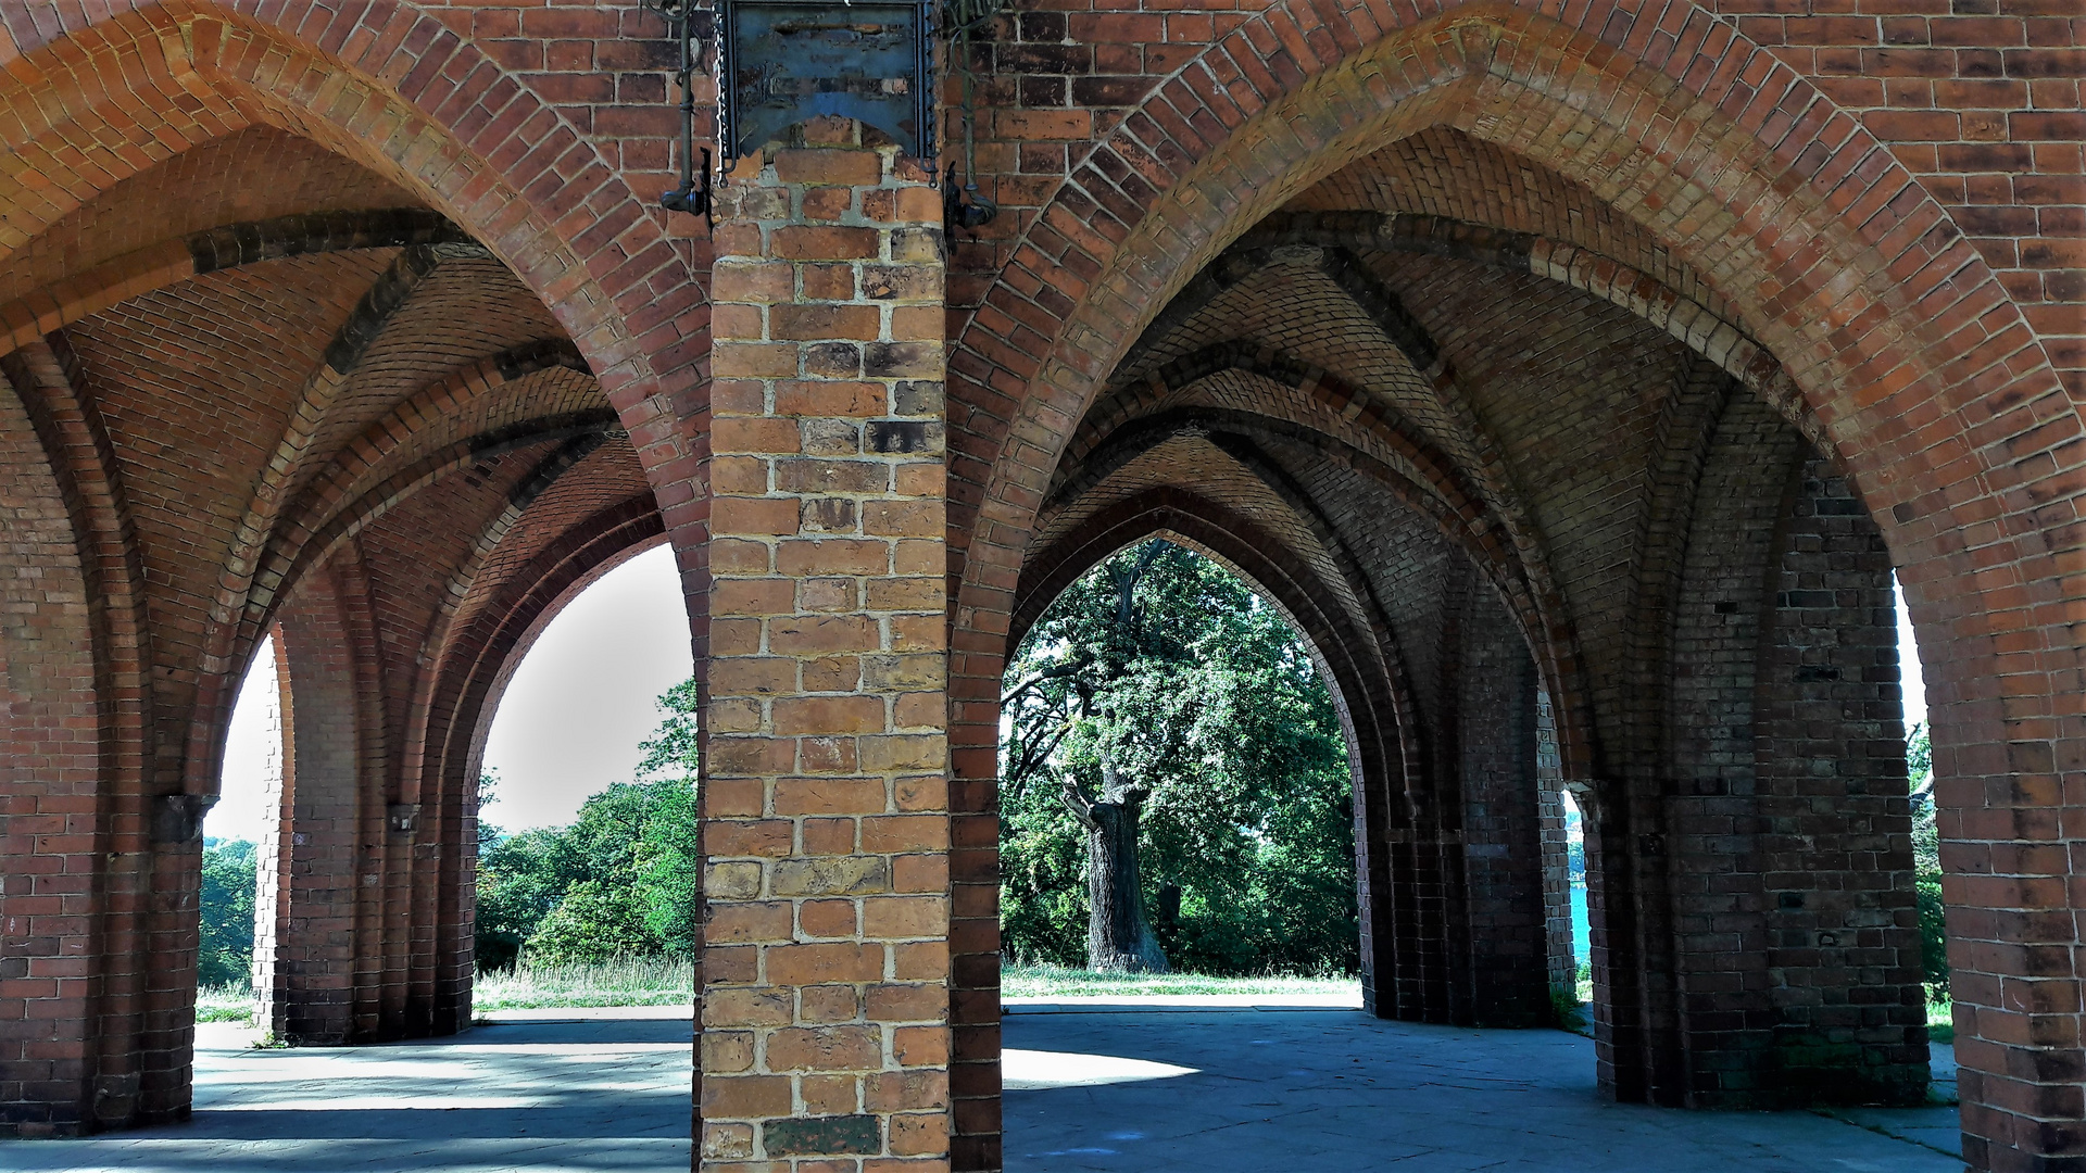
[[1604, 1104], [1594, 1044], [1560, 1031], [1356, 1010], [1051, 1010], [1005, 1019], [1008, 1173], [1963, 1169], [1944, 1106], [1854, 1123]]

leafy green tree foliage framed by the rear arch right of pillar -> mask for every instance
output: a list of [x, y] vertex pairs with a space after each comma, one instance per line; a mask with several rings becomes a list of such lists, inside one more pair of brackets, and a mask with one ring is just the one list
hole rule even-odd
[[[1118, 591], [1135, 576], [1129, 597]], [[1103, 758], [1149, 787], [1139, 860], [1177, 968], [1352, 973], [1354, 812], [1333, 697], [1287, 620], [1172, 543], [1074, 582], [1008, 668], [1001, 933], [1083, 966], [1085, 837], [1060, 799]]]

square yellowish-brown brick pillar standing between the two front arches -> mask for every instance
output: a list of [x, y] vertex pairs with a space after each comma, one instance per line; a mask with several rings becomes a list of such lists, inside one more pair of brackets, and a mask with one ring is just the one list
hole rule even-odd
[[853, 123], [715, 228], [701, 1169], [947, 1169], [941, 205]]

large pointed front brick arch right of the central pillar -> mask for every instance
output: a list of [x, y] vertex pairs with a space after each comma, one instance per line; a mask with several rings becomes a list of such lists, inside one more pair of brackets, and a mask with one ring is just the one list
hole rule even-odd
[[[1781, 363], [1905, 576], [1936, 697], [1944, 835], [2026, 864], [2013, 841], [2048, 839], [2063, 804], [2057, 770], [2082, 735], [2057, 699], [2078, 670], [2061, 618], [2078, 586], [2053, 553], [2059, 522], [2038, 513], [2053, 501], [2069, 518], [2080, 417], [1940, 205], [1809, 81], [1692, 8], [1675, 27], [1617, 4], [1575, 10], [1571, 25], [1508, 4], [1393, 31], [1366, 21], [1285, 6], [1206, 50], [1074, 165], [966, 326], [951, 430], [968, 436], [951, 449], [993, 457], [951, 463], [962, 789], [991, 779], [993, 689], [1035, 509], [1139, 330], [1291, 194], [1404, 134], [1450, 125], [1648, 228]], [[1564, 770], [1594, 779], [1585, 718], [1575, 697], [1558, 701]], [[2036, 858], [2036, 883], [2061, 883], [2067, 864]], [[1978, 902], [1950, 883], [1952, 897]], [[2017, 931], [2036, 933], [1984, 920], [1980, 935]], [[2026, 1087], [2003, 1092], [2015, 1044], [2000, 1039], [2028, 1039], [2038, 1021], [2044, 1033], [2063, 1027], [2003, 1006], [1996, 989], [1975, 996], [1992, 1046], [1971, 1062], [1988, 1104], [2028, 1104]], [[2076, 979], [2046, 989], [2067, 1002]], [[2011, 1127], [1982, 1121], [1978, 1135]], [[964, 1160], [993, 1156], [974, 1148]]]

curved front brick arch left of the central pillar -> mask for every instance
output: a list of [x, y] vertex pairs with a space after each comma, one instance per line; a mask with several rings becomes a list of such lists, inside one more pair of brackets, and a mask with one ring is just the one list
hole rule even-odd
[[[653, 488], [668, 493], [668, 470], [684, 470], [693, 455], [676, 436], [676, 417], [701, 407], [703, 386], [707, 298], [688, 257], [557, 111], [440, 21], [390, 0], [348, 13], [315, 0], [267, 4], [267, 15], [259, 8], [136, 4], [58, 38], [44, 38], [27, 17], [0, 17], [15, 48], [29, 46], [0, 86], [0, 109], [13, 115], [4, 144], [50, 179], [35, 192], [0, 179], [0, 207], [8, 207], [0, 246], [175, 154], [169, 142], [194, 144], [252, 123], [305, 136], [423, 194], [496, 253], [586, 355]], [[342, 46], [355, 46], [353, 58], [336, 56]], [[123, 148], [75, 165], [81, 154], [69, 144], [111, 140]], [[563, 211], [563, 221], [544, 209]], [[94, 301], [196, 273], [194, 253], [177, 257], [171, 246], [121, 261], [129, 265], [98, 269], [94, 284], [60, 282], [48, 290], [50, 305], [25, 307], [35, 311], [31, 321], [0, 319], [0, 328], [10, 336], [46, 321], [54, 328], [90, 313]], [[680, 403], [659, 394], [661, 376], [690, 384]], [[699, 505], [697, 497], [686, 484], [672, 493], [682, 511]], [[229, 647], [213, 651], [221, 668], [232, 666]], [[229, 672], [204, 674], [213, 676], [215, 691], [225, 691]], [[196, 712], [219, 708], [209, 697]], [[209, 737], [190, 739], [190, 789], [204, 785], [215, 764]]]

